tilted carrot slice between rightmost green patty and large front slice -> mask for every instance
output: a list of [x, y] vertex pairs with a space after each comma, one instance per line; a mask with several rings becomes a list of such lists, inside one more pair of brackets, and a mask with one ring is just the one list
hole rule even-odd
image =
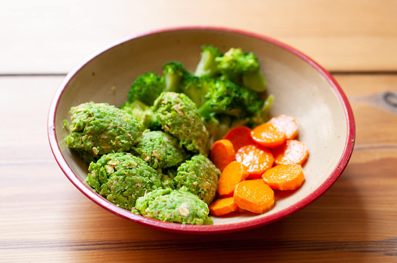
[[244, 181], [248, 176], [245, 166], [233, 161], [228, 164], [221, 173], [218, 181], [218, 193], [220, 195], [232, 195], [236, 185]]

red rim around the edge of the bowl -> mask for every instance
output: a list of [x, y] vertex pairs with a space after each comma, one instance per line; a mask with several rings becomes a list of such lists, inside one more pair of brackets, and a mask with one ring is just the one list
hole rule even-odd
[[[253, 219], [251, 221], [245, 221], [245, 222], [240, 222], [240, 223], [231, 223], [231, 224], [225, 224], [225, 225], [183, 225], [183, 224], [178, 224], [178, 223], [169, 223], [169, 222], [162, 222], [159, 220], [155, 219], [149, 219], [146, 217], [143, 217], [141, 215], [136, 215], [134, 213], [131, 213], [127, 210], [124, 210], [123, 208], [120, 208], [109, 201], [103, 199], [100, 197], [98, 194], [94, 193], [87, 185], [85, 185], [79, 177], [71, 170], [69, 165], [67, 164], [64, 156], [62, 155], [62, 152], [59, 148], [59, 145], [57, 143], [57, 138], [56, 138], [56, 133], [55, 133], [55, 113], [57, 111], [58, 103], [60, 100], [60, 97], [62, 96], [62, 93], [65, 89], [65, 87], [69, 84], [69, 81], [79, 72], [87, 63], [89, 63], [91, 60], [93, 60], [95, 57], [98, 55], [108, 51], [111, 48], [114, 48], [124, 42], [127, 41], [132, 41], [137, 38], [141, 38], [144, 36], [148, 36], [150, 34], [156, 34], [156, 33], [162, 33], [162, 32], [169, 32], [169, 31], [178, 31], [178, 30], [214, 30], [214, 31], [224, 31], [224, 32], [233, 32], [237, 34], [243, 34], [246, 36], [251, 36], [253, 38], [258, 38], [260, 40], [264, 40], [266, 42], [270, 42], [276, 46], [279, 46], [280, 48], [283, 48], [293, 54], [295, 54], [297, 57], [300, 57], [307, 63], [309, 63], [314, 69], [316, 69], [320, 74], [326, 78], [326, 80], [331, 84], [335, 92], [337, 93], [341, 104], [343, 106], [343, 109], [345, 111], [345, 116], [347, 120], [347, 139], [345, 143], [345, 147], [343, 149], [343, 153], [341, 155], [341, 158], [339, 159], [339, 162], [331, 172], [330, 176], [322, 183], [318, 188], [316, 188], [313, 192], [308, 194], [308, 196], [304, 197], [302, 200], [299, 202], [279, 211], [276, 212], [272, 215], [264, 216], [258, 219]], [[50, 109], [48, 112], [48, 122], [47, 122], [47, 129], [48, 129], [48, 140], [50, 142], [50, 147], [51, 151], [54, 154], [55, 160], [60, 166], [61, 170], [65, 173], [66, 177], [79, 189], [85, 196], [90, 198], [93, 202], [101, 206], [102, 208], [105, 208], [106, 210], [115, 213], [116, 215], [119, 215], [120, 217], [123, 217], [125, 219], [128, 219], [130, 221], [133, 221], [135, 223], [139, 223], [141, 225], [145, 225], [148, 227], [152, 227], [154, 229], [161, 229], [165, 231], [170, 231], [170, 232], [175, 232], [175, 233], [187, 233], [187, 234], [219, 234], [219, 233], [230, 233], [230, 232], [235, 232], [235, 231], [242, 231], [246, 229], [252, 229], [254, 227], [259, 227], [261, 225], [266, 225], [269, 223], [272, 223], [274, 221], [278, 221], [280, 219], [283, 219], [292, 213], [295, 213], [302, 208], [306, 207], [310, 203], [312, 203], [314, 200], [319, 198], [324, 192], [326, 192], [334, 183], [335, 181], [339, 178], [343, 170], [345, 170], [347, 163], [349, 162], [349, 159], [351, 157], [351, 154], [353, 152], [353, 147], [354, 147], [354, 141], [355, 141], [355, 122], [354, 122], [354, 117], [353, 117], [353, 111], [351, 109], [351, 106], [349, 104], [349, 101], [347, 100], [347, 97], [345, 93], [343, 93], [341, 87], [339, 84], [336, 82], [336, 80], [331, 76], [330, 72], [326, 71], [323, 67], [321, 67], [318, 63], [313, 61], [311, 58], [308, 56], [304, 55], [302, 52], [282, 43], [279, 42], [278, 40], [274, 40], [268, 36], [262, 36], [260, 34], [256, 34], [253, 32], [247, 32], [245, 30], [239, 30], [239, 29], [230, 29], [230, 28], [223, 28], [223, 27], [202, 27], [202, 26], [189, 26], [189, 27], [174, 27], [174, 28], [168, 28], [168, 29], [160, 29], [160, 30], [154, 30], [154, 31], [149, 31], [143, 34], [138, 34], [133, 37], [129, 37], [123, 40], [118, 41], [115, 44], [112, 44], [98, 52], [96, 52], [93, 56], [89, 57], [86, 59], [83, 63], [81, 63], [79, 66], [77, 66], [73, 71], [69, 72], [67, 76], [65, 77], [64, 81], [60, 84], [58, 90], [56, 91], [54, 98], [52, 99]]]

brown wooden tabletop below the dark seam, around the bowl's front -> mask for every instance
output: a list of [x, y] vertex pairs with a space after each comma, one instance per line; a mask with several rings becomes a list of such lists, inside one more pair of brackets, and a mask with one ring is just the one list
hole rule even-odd
[[47, 110], [62, 77], [0, 77], [0, 122], [6, 124], [0, 136], [0, 261], [397, 262], [397, 115], [354, 101], [397, 92], [397, 76], [336, 78], [353, 99], [357, 139], [335, 185], [271, 225], [191, 236], [121, 219], [67, 180], [46, 135]]

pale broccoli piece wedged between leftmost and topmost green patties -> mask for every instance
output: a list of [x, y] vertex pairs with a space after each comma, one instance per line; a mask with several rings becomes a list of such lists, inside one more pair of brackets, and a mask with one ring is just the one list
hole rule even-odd
[[141, 122], [143, 130], [160, 130], [161, 128], [160, 122], [156, 119], [156, 115], [150, 107], [142, 101], [136, 100], [132, 103], [126, 101], [120, 109], [137, 118], [137, 120]]

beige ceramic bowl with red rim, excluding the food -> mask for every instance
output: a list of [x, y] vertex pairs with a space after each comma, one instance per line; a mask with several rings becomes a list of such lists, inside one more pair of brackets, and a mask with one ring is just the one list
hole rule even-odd
[[[193, 71], [200, 46], [212, 44], [222, 52], [230, 47], [253, 51], [275, 96], [271, 116], [287, 114], [299, 124], [299, 137], [310, 156], [304, 165], [306, 181], [293, 192], [276, 191], [270, 211], [212, 217], [214, 225], [181, 225], [135, 215], [108, 202], [85, 183], [88, 167], [64, 141], [70, 107], [94, 101], [120, 106], [131, 83], [144, 72], [161, 73], [168, 61], [181, 61]], [[329, 72], [303, 53], [277, 40], [241, 30], [185, 27], [133, 36], [99, 51], [62, 82], [48, 114], [52, 152], [67, 178], [99, 206], [125, 219], [173, 232], [212, 234], [250, 229], [272, 223], [301, 210], [327, 191], [338, 179], [351, 156], [355, 138], [353, 113], [347, 98]]]

